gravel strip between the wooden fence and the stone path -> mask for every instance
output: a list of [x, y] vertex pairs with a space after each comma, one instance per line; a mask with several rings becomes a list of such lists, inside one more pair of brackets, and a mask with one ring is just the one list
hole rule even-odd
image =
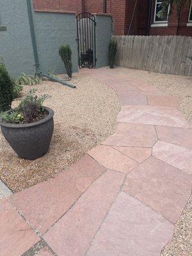
[[192, 77], [159, 74], [145, 70], [117, 67], [116, 72], [123, 72], [134, 79], [156, 86], [159, 90], [174, 95], [179, 102], [179, 110], [189, 123], [192, 123]]

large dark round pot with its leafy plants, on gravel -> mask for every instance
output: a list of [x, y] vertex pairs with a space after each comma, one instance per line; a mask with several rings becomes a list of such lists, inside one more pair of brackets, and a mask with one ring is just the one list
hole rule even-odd
[[35, 93], [30, 90], [17, 108], [1, 113], [0, 118], [4, 138], [19, 157], [29, 160], [47, 153], [54, 129], [54, 112], [43, 106], [49, 96]]

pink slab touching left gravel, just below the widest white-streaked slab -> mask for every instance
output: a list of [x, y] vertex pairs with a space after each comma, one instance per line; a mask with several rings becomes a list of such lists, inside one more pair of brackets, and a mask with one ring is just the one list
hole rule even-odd
[[116, 132], [103, 145], [125, 147], [152, 147], [157, 141], [153, 125], [118, 123]]

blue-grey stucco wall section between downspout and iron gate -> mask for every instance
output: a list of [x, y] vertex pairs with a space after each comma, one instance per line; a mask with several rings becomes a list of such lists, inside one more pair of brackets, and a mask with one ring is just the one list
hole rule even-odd
[[61, 44], [69, 44], [72, 49], [73, 72], [77, 72], [76, 16], [67, 13], [34, 12], [33, 20], [42, 71], [51, 70], [56, 74], [64, 73], [65, 68], [58, 49]]

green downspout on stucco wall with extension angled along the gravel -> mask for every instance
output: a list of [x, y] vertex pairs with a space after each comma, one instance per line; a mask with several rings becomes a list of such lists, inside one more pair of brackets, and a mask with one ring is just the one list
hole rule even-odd
[[32, 45], [33, 45], [33, 54], [34, 54], [34, 59], [35, 59], [36, 74], [38, 74], [40, 76], [47, 77], [51, 81], [61, 83], [70, 88], [76, 88], [76, 86], [74, 86], [73, 84], [69, 84], [63, 80], [56, 78], [56, 77], [49, 76], [48, 74], [43, 74], [40, 71], [40, 63], [38, 60], [38, 51], [37, 51], [37, 47], [36, 47], [36, 37], [35, 37], [35, 28], [34, 28], [34, 23], [33, 23], [33, 12], [32, 12], [31, 0], [26, 0], [26, 1], [27, 1], [27, 6], [28, 6], [29, 26], [30, 26], [30, 31], [31, 31], [31, 40], [32, 40]]

